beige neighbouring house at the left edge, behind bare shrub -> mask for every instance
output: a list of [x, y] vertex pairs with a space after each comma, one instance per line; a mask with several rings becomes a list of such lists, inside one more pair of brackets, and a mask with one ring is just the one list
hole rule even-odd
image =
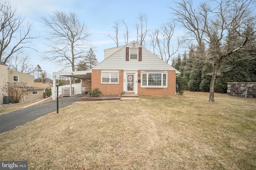
[[44, 90], [46, 88], [35, 87], [34, 76], [16, 70], [8, 69], [8, 66], [6, 64], [1, 63], [0, 72], [0, 104], [4, 103], [3, 97], [8, 96], [8, 94], [2, 94], [2, 86], [4, 86], [4, 82], [26, 82], [27, 86], [33, 89], [29, 95], [22, 98], [21, 102], [30, 102], [44, 98]]

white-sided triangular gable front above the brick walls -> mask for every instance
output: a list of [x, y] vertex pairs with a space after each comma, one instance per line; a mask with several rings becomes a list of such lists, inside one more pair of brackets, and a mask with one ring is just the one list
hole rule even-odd
[[[94, 66], [92, 69], [99, 70], [175, 70], [176, 74], [180, 74], [178, 70], [162, 61], [159, 57], [142, 47], [142, 61], [130, 60], [126, 61], [126, 47], [133, 48], [135, 43], [136, 48], [142, 47], [136, 41], [132, 41], [128, 45], [116, 47], [118, 51], [111, 50], [114, 53], [104, 61]], [[119, 49], [120, 48], [120, 49]], [[114, 49], [114, 48], [111, 48]]]

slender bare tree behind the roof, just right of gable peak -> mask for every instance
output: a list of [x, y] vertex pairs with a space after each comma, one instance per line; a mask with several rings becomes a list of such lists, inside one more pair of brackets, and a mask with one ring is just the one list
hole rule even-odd
[[140, 14], [138, 20], [140, 23], [136, 23], [137, 43], [145, 47], [146, 35], [149, 31], [148, 16], [146, 16], [146, 14]]

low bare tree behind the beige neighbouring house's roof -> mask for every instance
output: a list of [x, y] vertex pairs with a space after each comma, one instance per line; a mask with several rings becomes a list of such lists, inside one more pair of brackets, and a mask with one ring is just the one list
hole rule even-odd
[[11, 60], [8, 62], [9, 68], [19, 72], [33, 75], [33, 65], [30, 63], [31, 60], [28, 54], [24, 54], [22, 51], [18, 51], [16, 55], [11, 57]]

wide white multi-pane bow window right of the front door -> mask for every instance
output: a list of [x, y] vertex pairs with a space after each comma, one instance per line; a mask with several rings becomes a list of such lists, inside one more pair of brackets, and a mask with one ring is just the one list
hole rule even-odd
[[142, 73], [142, 87], [166, 87], [166, 75], [163, 72]]

